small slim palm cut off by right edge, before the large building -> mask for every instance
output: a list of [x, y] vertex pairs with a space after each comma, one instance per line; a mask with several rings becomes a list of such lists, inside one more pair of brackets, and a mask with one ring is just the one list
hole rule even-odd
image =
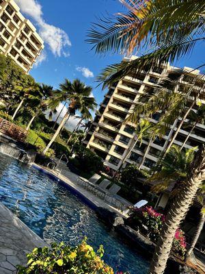
[[190, 135], [192, 134], [193, 130], [195, 129], [197, 123], [204, 123], [205, 120], [205, 105], [200, 105], [197, 111], [192, 111], [189, 116], [189, 122], [192, 122], [192, 127], [187, 135], [187, 138], [184, 140], [180, 150], [186, 145], [187, 140], [189, 139]]

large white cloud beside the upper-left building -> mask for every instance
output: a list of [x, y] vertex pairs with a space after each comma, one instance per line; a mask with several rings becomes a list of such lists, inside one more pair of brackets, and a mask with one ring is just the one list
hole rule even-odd
[[44, 42], [49, 45], [49, 48], [55, 56], [69, 56], [68, 47], [71, 46], [68, 34], [63, 29], [49, 25], [44, 21], [42, 6], [36, 0], [16, 0], [20, 10], [31, 16], [39, 27], [39, 33]]

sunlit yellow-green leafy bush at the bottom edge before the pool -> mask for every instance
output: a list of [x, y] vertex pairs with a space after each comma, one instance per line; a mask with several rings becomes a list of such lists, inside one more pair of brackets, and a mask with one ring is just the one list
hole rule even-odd
[[103, 247], [95, 253], [83, 240], [77, 247], [61, 242], [48, 247], [35, 248], [27, 255], [27, 266], [18, 266], [18, 274], [114, 274], [113, 269], [102, 260]]

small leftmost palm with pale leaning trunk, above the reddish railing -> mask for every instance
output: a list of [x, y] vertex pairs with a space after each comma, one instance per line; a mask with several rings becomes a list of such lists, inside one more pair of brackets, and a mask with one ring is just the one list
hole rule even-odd
[[18, 81], [18, 83], [15, 86], [15, 92], [18, 94], [20, 103], [18, 103], [18, 106], [12, 116], [12, 120], [16, 117], [16, 114], [18, 113], [18, 110], [20, 110], [21, 106], [23, 105], [25, 99], [29, 97], [29, 94], [31, 92], [36, 92], [39, 90], [38, 84], [36, 84], [33, 77], [29, 75], [25, 75], [23, 79]]

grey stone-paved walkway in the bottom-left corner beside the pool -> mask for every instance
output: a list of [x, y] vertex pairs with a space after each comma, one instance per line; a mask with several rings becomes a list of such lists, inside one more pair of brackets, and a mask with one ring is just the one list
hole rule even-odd
[[0, 273], [15, 274], [17, 264], [27, 262], [26, 254], [45, 242], [0, 202]]

